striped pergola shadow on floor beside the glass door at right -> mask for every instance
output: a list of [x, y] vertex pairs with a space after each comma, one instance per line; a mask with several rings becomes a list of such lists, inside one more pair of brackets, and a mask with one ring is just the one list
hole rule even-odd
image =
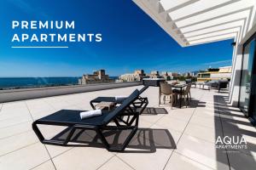
[[[235, 139], [241, 139], [242, 137], [245, 137], [245, 139], [248, 139], [253, 137], [256, 138], [256, 128], [252, 126], [250, 122], [247, 121], [246, 116], [244, 116], [241, 111], [239, 111], [237, 108], [232, 108], [228, 104], [228, 99], [226, 96], [220, 95], [214, 95], [214, 112], [216, 114], [219, 114], [220, 121], [221, 121], [221, 127], [222, 127], [222, 139], [224, 140], [224, 137], [228, 136], [230, 138], [235, 137]], [[219, 126], [219, 123], [215, 120], [215, 138], [218, 139], [218, 129], [217, 126]], [[234, 140], [235, 141], [235, 140]], [[234, 143], [232, 143], [234, 144]], [[223, 156], [220, 156], [220, 153], [223, 153], [226, 155], [228, 162], [223, 159]], [[249, 167], [252, 163], [252, 165], [256, 165], [256, 161], [254, 160], [252, 156], [252, 152], [256, 152], [256, 144], [251, 143], [250, 141], [247, 141], [247, 149], [216, 149], [217, 153], [217, 161], [227, 164], [230, 166], [230, 168], [234, 169], [241, 169], [241, 167], [245, 167], [247, 169], [250, 169]], [[246, 154], [246, 155], [241, 155]], [[239, 161], [239, 163], [236, 163], [236, 161]], [[246, 165], [249, 163], [248, 165]], [[218, 163], [218, 168], [219, 163]]]

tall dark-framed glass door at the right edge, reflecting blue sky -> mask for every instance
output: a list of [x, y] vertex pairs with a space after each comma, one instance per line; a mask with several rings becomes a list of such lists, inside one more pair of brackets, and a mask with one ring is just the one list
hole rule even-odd
[[[241, 110], [250, 117], [256, 117], [255, 104], [255, 35], [251, 37], [243, 48], [242, 68], [241, 68], [241, 87], [239, 105]], [[256, 120], [256, 119], [255, 119]]]

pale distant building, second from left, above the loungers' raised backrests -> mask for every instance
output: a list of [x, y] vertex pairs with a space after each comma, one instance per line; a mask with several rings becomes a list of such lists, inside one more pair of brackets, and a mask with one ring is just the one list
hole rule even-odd
[[117, 82], [137, 82], [142, 81], [143, 77], [146, 77], [143, 70], [134, 71], [134, 73], [126, 73], [119, 77]]

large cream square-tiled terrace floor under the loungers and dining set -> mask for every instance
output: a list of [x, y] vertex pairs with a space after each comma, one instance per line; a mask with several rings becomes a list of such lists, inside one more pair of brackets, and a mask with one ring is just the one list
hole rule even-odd
[[[149, 105], [140, 116], [137, 135], [124, 153], [102, 147], [44, 145], [32, 131], [32, 121], [61, 109], [91, 110], [97, 96], [130, 94], [117, 88], [83, 94], [0, 104], [0, 169], [253, 169], [256, 130], [241, 112], [226, 104], [227, 94], [192, 88], [190, 107], [158, 106], [158, 88], [143, 93]], [[53, 136], [61, 127], [44, 127]], [[247, 150], [217, 150], [218, 136], [247, 140]], [[91, 138], [90, 133], [82, 135]], [[227, 152], [228, 151], [228, 152]]]

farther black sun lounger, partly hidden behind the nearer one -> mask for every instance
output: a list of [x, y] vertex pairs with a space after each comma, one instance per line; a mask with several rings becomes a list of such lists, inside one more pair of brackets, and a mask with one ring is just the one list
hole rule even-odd
[[[143, 94], [143, 92], [148, 89], [148, 86], [144, 86], [142, 89], [139, 90], [139, 95]], [[92, 109], [96, 109], [96, 104], [104, 102], [113, 102], [114, 104], [122, 104], [125, 99], [118, 99], [116, 100], [115, 97], [97, 97], [96, 99], [90, 100], [90, 106]], [[138, 97], [136, 101], [133, 102], [133, 106], [135, 108], [140, 108], [140, 114], [143, 113], [144, 109], [148, 105], [148, 98], [143, 98], [141, 96]]]

